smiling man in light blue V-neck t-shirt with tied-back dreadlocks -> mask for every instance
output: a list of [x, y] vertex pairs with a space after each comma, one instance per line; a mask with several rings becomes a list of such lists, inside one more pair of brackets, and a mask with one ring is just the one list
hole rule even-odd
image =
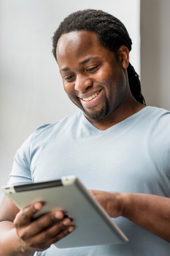
[[129, 63], [131, 44], [124, 25], [103, 11], [78, 11], [61, 22], [53, 54], [64, 90], [81, 111], [39, 127], [17, 151], [9, 180], [77, 175], [107, 213], [119, 217], [129, 242], [57, 249], [52, 243], [76, 228], [69, 218], [54, 211], [31, 222], [40, 202], [19, 211], [4, 198], [0, 255], [169, 255], [170, 112], [144, 105]]

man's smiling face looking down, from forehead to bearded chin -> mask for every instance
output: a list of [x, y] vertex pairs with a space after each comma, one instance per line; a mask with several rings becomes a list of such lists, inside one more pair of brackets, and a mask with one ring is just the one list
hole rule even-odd
[[122, 103], [126, 79], [121, 61], [100, 45], [96, 34], [63, 34], [56, 53], [64, 90], [88, 119], [103, 119]]

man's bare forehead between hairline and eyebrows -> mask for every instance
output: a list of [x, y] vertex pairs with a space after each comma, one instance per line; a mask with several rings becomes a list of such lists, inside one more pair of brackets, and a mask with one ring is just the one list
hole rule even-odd
[[63, 34], [56, 49], [60, 71], [68, 71], [71, 67], [78, 68], [80, 65], [88, 63], [89, 60], [105, 61], [110, 58], [111, 54], [113, 53], [106, 47], [100, 45], [96, 34], [90, 31], [74, 31]]

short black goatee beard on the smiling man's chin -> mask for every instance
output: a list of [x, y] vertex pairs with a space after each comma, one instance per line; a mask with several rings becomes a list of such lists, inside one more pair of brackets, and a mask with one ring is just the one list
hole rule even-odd
[[109, 101], [105, 95], [105, 103], [103, 105], [103, 107], [99, 110], [99, 111], [95, 111], [95, 109], [88, 112], [87, 110], [85, 110], [82, 106], [82, 110], [85, 113], [85, 115], [87, 115], [87, 117], [94, 119], [94, 120], [101, 120], [103, 118], [105, 118], [107, 116], [107, 114], [109, 113]]

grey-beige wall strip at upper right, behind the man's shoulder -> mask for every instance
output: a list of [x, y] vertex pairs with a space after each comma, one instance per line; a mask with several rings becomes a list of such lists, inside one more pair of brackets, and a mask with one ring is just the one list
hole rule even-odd
[[141, 1], [141, 82], [147, 105], [170, 110], [170, 0]]

